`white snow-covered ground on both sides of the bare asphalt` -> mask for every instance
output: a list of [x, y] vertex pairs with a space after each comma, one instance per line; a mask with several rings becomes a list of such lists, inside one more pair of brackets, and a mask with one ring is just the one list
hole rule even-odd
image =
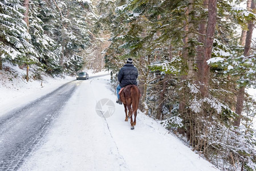
[[[97, 115], [97, 101], [116, 100], [109, 78], [77, 81], [66, 107], [19, 170], [217, 170], [141, 112], [133, 131], [124, 121], [123, 105], [115, 104], [115, 112], [106, 119]], [[1, 113], [72, 80], [75, 77], [45, 78], [43, 87], [40, 82], [17, 83], [18, 90], [1, 86]]]

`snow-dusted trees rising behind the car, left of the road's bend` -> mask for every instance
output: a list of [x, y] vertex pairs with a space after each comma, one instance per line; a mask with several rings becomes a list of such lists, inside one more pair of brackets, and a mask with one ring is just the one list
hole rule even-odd
[[70, 60], [74, 58], [74, 54], [77, 56], [91, 45], [94, 35], [90, 27], [96, 17], [87, 1], [56, 1], [55, 5], [60, 11], [59, 22], [55, 23], [54, 29], [55, 40], [62, 46], [60, 66], [66, 72], [74, 72], [76, 69], [70, 65]]

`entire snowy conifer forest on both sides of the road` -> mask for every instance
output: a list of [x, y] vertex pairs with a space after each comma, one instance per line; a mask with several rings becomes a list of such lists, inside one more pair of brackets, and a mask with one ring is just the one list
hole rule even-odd
[[[256, 0], [1, 0], [4, 63], [40, 75], [139, 70], [141, 112], [220, 170], [256, 170]], [[1, 77], [1, 76], [0, 76]], [[153, 148], [153, 147], [152, 147]]]

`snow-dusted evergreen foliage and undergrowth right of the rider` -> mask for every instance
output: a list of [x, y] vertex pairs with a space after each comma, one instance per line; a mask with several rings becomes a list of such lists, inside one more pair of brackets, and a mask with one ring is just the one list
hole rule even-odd
[[[243, 56], [237, 31], [246, 28], [255, 14], [237, 7], [239, 3], [217, 3], [212, 59], [208, 61], [209, 97], [204, 98], [197, 76], [186, 79], [191, 69], [188, 56], [196, 59], [196, 47], [204, 46], [197, 39], [198, 26], [208, 17], [203, 1], [194, 2], [193, 14], [187, 13], [188, 1], [127, 1], [108, 18], [112, 31], [105, 55], [107, 68], [116, 73], [125, 58], [135, 59], [143, 92], [140, 109], [178, 135], [183, 134], [193, 150], [222, 170], [256, 169], [255, 131], [250, 124], [255, 117], [253, 108], [244, 109], [243, 116], [251, 114], [242, 118], [241, 127], [233, 127], [237, 90], [255, 86], [256, 71], [254, 52]], [[185, 29], [188, 15], [192, 16], [192, 30]], [[185, 42], [190, 32], [193, 35]], [[188, 56], [184, 58], [185, 51]], [[196, 63], [194, 73], [200, 70]], [[246, 101], [255, 108], [253, 99]]]

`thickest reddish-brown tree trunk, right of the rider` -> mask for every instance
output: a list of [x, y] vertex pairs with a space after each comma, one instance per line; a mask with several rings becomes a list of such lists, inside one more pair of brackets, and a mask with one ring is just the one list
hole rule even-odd
[[214, 31], [216, 26], [216, 16], [217, 16], [217, 0], [209, 1], [208, 7], [208, 26], [206, 30], [205, 37], [205, 49], [204, 49], [204, 59], [202, 61], [202, 80], [201, 80], [201, 93], [202, 97], [209, 96], [209, 79], [210, 79], [210, 67], [207, 64], [212, 56]]

